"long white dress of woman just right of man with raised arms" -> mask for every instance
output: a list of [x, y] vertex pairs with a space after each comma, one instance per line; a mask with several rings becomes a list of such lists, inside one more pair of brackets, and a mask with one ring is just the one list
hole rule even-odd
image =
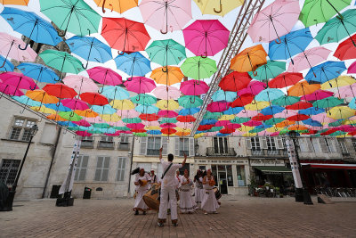
[[181, 212], [190, 212], [194, 211], [195, 209], [198, 209], [197, 203], [193, 200], [191, 197], [191, 185], [192, 182], [190, 178], [186, 178], [185, 176], [182, 176], [181, 178], [181, 183], [186, 183], [187, 181], [190, 181], [190, 184], [188, 185], [181, 185], [180, 191], [179, 191], [179, 208], [181, 209]]

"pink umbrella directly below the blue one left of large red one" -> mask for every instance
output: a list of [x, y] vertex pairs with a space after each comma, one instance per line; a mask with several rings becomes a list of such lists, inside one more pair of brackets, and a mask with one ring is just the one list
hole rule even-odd
[[117, 86], [122, 84], [122, 77], [114, 70], [97, 66], [86, 71], [90, 78], [101, 85]]

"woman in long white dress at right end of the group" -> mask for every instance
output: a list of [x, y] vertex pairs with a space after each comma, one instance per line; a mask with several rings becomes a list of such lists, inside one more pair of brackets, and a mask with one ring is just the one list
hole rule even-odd
[[204, 197], [201, 202], [201, 209], [203, 209], [204, 214], [207, 213], [217, 213], [216, 209], [220, 206], [216, 201], [215, 193], [214, 193], [214, 176], [210, 169], [207, 169], [206, 176], [203, 178], [203, 188], [204, 188]]

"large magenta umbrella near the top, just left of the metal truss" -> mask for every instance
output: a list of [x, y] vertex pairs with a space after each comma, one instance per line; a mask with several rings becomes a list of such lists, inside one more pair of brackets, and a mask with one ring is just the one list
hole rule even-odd
[[183, 29], [185, 47], [195, 55], [214, 56], [229, 42], [230, 31], [218, 20], [198, 20]]

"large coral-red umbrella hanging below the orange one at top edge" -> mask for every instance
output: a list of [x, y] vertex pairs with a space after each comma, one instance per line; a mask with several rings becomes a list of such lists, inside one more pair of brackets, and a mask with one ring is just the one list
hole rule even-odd
[[123, 53], [144, 51], [150, 41], [143, 23], [125, 18], [102, 18], [101, 36], [111, 48]]

